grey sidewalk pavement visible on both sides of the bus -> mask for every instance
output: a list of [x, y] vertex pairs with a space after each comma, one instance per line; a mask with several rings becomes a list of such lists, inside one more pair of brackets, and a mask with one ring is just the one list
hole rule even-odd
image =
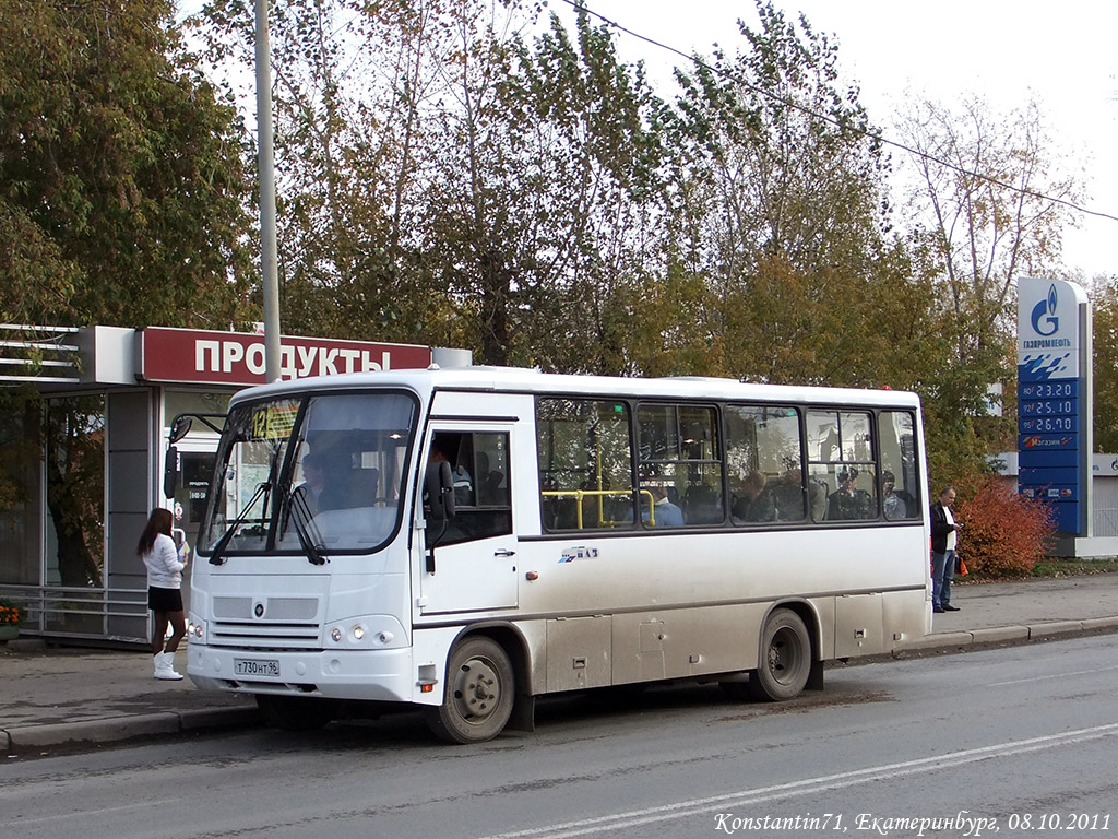
[[[957, 583], [951, 602], [960, 611], [934, 615], [932, 632], [902, 651], [1118, 631], [1118, 574]], [[183, 645], [179, 672], [186, 659]], [[153, 679], [151, 656], [142, 650], [47, 647], [37, 639], [0, 644], [0, 750], [9, 755], [259, 722], [249, 696], [202, 691], [189, 678]]]

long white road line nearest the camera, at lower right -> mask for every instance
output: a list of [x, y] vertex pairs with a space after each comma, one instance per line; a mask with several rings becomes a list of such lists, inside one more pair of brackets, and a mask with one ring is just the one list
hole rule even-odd
[[548, 824], [539, 828], [528, 828], [525, 830], [514, 830], [506, 833], [496, 833], [484, 837], [484, 839], [568, 839], [569, 837], [587, 836], [589, 833], [600, 833], [616, 831], [627, 828], [651, 824], [654, 822], [670, 821], [685, 816], [695, 816], [710, 810], [720, 810], [745, 804], [758, 804], [766, 801], [774, 801], [792, 795], [803, 795], [809, 792], [822, 792], [827, 790], [839, 790], [846, 786], [854, 786], [868, 781], [896, 780], [906, 775], [915, 775], [923, 772], [935, 772], [936, 770], [963, 766], [968, 763], [977, 763], [995, 757], [1010, 757], [1029, 752], [1040, 752], [1058, 746], [1083, 743], [1102, 737], [1118, 735], [1118, 723], [1093, 726], [1091, 728], [1078, 728], [1072, 732], [1061, 734], [1050, 734], [1043, 737], [1030, 737], [1029, 739], [1011, 741], [998, 743], [993, 746], [982, 746], [978, 748], [967, 748], [961, 752], [953, 752], [937, 757], [921, 757], [915, 761], [902, 763], [890, 763], [882, 766], [870, 766], [863, 770], [851, 772], [840, 772], [834, 775], [822, 775], [802, 781], [789, 781], [773, 786], [759, 786], [752, 790], [741, 790], [724, 795], [713, 795], [710, 798], [690, 799], [678, 801], [673, 804], [662, 804], [660, 807], [646, 808], [643, 810], [631, 810], [613, 816], [599, 816], [591, 819], [579, 819], [559, 824]]

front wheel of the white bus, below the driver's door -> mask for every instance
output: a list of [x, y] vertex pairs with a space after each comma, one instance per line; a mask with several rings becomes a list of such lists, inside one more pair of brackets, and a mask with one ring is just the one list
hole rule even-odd
[[445, 690], [442, 705], [425, 709], [435, 736], [461, 744], [493, 739], [512, 715], [512, 662], [496, 641], [467, 639], [451, 652]]

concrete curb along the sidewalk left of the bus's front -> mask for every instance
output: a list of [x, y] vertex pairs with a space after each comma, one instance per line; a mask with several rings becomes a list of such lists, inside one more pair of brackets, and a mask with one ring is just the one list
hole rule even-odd
[[133, 714], [78, 723], [16, 726], [0, 730], [0, 747], [8, 754], [78, 743], [114, 743], [133, 737], [180, 734], [207, 728], [258, 725], [257, 708], [203, 708], [159, 714]]

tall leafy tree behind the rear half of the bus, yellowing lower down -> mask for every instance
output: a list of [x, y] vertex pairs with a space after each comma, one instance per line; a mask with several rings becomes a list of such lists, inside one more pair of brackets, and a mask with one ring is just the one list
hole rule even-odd
[[839, 84], [837, 47], [757, 10], [745, 48], [679, 73], [669, 272], [698, 317], [676, 342], [708, 347], [722, 375], [909, 386], [935, 330], [888, 230], [878, 132]]

